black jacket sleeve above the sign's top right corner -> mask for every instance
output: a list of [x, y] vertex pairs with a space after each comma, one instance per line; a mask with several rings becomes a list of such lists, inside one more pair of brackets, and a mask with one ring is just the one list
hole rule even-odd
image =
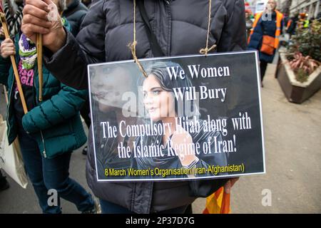
[[225, 1], [227, 16], [218, 43], [218, 52], [246, 48], [245, 6], [243, 0]]

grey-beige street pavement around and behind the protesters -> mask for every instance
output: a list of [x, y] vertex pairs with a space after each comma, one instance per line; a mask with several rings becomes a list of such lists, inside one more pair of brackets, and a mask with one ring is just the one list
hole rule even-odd
[[[274, 78], [275, 67], [268, 66], [261, 89], [266, 174], [240, 177], [231, 192], [231, 212], [321, 213], [321, 90], [300, 105], [290, 103]], [[0, 113], [6, 113], [3, 94]], [[73, 152], [70, 176], [90, 191], [82, 149]], [[11, 187], [0, 192], [0, 213], [41, 213], [30, 182], [24, 190], [8, 180]], [[270, 206], [262, 204], [265, 191], [271, 193]], [[64, 199], [61, 206], [63, 213], [78, 213]], [[197, 199], [193, 212], [204, 207], [205, 199]]]

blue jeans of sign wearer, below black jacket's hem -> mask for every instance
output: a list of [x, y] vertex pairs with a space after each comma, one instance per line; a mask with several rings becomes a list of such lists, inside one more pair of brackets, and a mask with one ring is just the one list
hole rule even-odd
[[[108, 202], [103, 199], [99, 199], [101, 204], [101, 213], [102, 214], [135, 214], [125, 207], [121, 207], [118, 204]], [[183, 214], [188, 205], [182, 207], [176, 207], [173, 209], [168, 209], [163, 212], [157, 212], [158, 214]]]

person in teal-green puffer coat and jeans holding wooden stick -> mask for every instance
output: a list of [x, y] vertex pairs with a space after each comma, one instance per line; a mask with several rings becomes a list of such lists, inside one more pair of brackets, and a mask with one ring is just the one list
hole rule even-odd
[[[57, 0], [60, 11], [63, 0]], [[68, 21], [62, 19], [68, 28]], [[19, 78], [29, 110], [24, 109], [16, 88], [9, 56], [16, 57]], [[71, 152], [87, 140], [79, 109], [87, 90], [76, 90], [60, 83], [43, 66], [42, 100], [39, 101], [39, 73], [35, 44], [23, 33], [15, 41], [1, 43], [0, 83], [8, 87], [8, 139], [19, 138], [21, 154], [39, 204], [44, 213], [61, 213], [60, 197], [76, 204], [84, 213], [97, 210], [93, 197], [69, 177]], [[56, 199], [51, 196], [56, 194]], [[49, 199], [51, 197], [51, 199]]]

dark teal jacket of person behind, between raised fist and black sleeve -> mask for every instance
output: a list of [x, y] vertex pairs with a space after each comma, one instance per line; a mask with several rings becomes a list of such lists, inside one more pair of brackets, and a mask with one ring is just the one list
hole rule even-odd
[[73, 33], [73, 36], [77, 36], [80, 31], [81, 23], [87, 11], [87, 7], [82, 4], [80, 0], [72, 0], [71, 4], [67, 6], [67, 9], [63, 11], [63, 16], [66, 17], [71, 25], [71, 33]]

